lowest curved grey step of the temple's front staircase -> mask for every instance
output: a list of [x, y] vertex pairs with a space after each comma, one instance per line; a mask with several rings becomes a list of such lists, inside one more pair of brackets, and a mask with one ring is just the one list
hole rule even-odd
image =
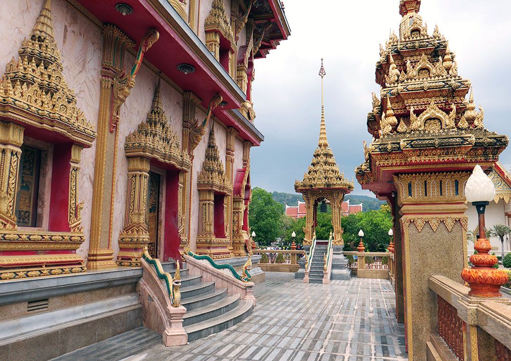
[[252, 309], [253, 302], [251, 300], [240, 300], [236, 308], [223, 315], [185, 327], [184, 329], [188, 333], [188, 341], [194, 341], [223, 331], [248, 317], [252, 313]]

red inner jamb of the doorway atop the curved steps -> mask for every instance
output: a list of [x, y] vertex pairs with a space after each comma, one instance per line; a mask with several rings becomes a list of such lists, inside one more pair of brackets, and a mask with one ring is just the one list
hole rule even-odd
[[179, 191], [179, 172], [168, 171], [165, 181], [165, 211], [164, 211], [164, 247], [163, 259], [179, 259], [181, 238], [178, 228], [177, 199]]

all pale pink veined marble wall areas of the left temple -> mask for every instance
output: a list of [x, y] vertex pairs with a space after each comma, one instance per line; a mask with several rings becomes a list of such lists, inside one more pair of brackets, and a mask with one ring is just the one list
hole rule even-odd
[[[212, 0], [201, 3], [201, 11], [205, 16], [211, 10]], [[43, 0], [12, 0], [0, 2], [0, 12], [9, 13], [12, 16], [5, 17], [0, 23], [0, 46], [3, 56], [0, 57], [0, 71], [5, 71], [5, 66], [12, 57], [18, 57], [18, 49], [21, 41], [30, 34], [34, 23], [42, 8]], [[226, 4], [230, 12], [229, 4]], [[52, 15], [54, 32], [59, 50], [62, 55], [64, 76], [69, 87], [74, 89], [77, 96], [78, 106], [84, 111], [87, 119], [97, 127], [98, 104], [100, 97], [100, 75], [102, 57], [101, 29], [89, 19], [82, 16], [64, 0], [52, 1]], [[201, 15], [200, 28], [203, 33], [204, 15]], [[127, 67], [133, 62], [133, 56], [127, 54], [125, 64]], [[117, 165], [115, 168], [114, 207], [111, 244], [114, 255], [119, 252], [118, 238], [124, 226], [124, 213], [126, 202], [127, 159], [124, 153], [126, 136], [134, 131], [138, 124], [145, 122], [151, 108], [154, 90], [158, 82], [158, 75], [148, 66], [143, 65], [136, 76], [136, 84], [131, 90], [125, 104], [121, 107], [121, 118], [118, 125]], [[182, 138], [182, 90], [176, 89], [167, 81], [161, 81], [161, 98], [167, 120], [175, 131], [177, 139]], [[203, 119], [205, 112], [197, 109], [197, 118]], [[204, 153], [207, 146], [208, 134], [212, 122], [208, 127], [205, 137], [195, 150], [195, 159], [192, 169], [192, 204], [190, 222], [190, 241], [192, 248], [195, 247], [198, 228], [198, 191], [197, 176], [202, 169]], [[220, 151], [222, 162], [225, 164], [225, 141], [226, 129], [217, 120], [214, 122], [215, 136]], [[85, 242], [77, 253], [87, 257], [89, 247], [89, 232], [91, 219], [92, 183], [94, 180], [94, 163], [96, 143], [92, 148], [84, 149], [80, 163], [79, 198], [84, 200], [82, 211], [82, 224], [85, 232]], [[241, 140], [236, 140], [235, 171], [241, 167], [243, 146]]]

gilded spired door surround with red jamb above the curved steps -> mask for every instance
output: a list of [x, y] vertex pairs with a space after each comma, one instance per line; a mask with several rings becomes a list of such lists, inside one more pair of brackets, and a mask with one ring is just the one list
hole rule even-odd
[[[128, 158], [126, 186], [126, 210], [124, 229], [119, 236], [119, 266], [140, 267], [140, 257], [149, 242], [147, 226], [147, 196], [149, 169], [151, 165], [165, 171], [164, 229], [165, 239], [162, 259], [179, 257], [178, 248], [184, 234], [183, 181], [184, 173], [192, 162], [179, 141], [163, 110], [160, 97], [160, 81], [156, 86], [147, 121], [126, 137], [124, 145]], [[177, 202], [176, 202], [177, 200]], [[172, 222], [177, 217], [177, 222]], [[174, 223], [177, 223], [175, 229]], [[179, 239], [178, 239], [179, 238]]]

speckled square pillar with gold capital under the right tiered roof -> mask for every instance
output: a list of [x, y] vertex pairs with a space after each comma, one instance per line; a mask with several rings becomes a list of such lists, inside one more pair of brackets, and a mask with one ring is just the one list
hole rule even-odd
[[[428, 288], [428, 278], [442, 275], [462, 283], [468, 224], [463, 184], [469, 175], [394, 175], [401, 207], [404, 316], [410, 360], [426, 359], [426, 342], [436, 328], [436, 296]], [[399, 252], [399, 247], [396, 250]]]

